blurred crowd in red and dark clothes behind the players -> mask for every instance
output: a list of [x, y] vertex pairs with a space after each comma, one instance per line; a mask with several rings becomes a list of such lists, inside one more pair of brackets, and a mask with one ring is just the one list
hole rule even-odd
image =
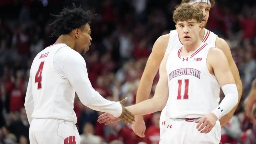
[[[175, 29], [172, 13], [180, 0], [1, 0], [0, 144], [29, 143], [24, 99], [30, 66], [35, 55], [57, 39], [49, 37], [50, 13], [58, 14], [72, 2], [98, 14], [91, 23], [92, 45], [83, 56], [93, 87], [109, 100], [128, 97], [126, 105], [131, 105], [154, 42]], [[222, 127], [222, 142], [255, 142], [256, 130], [244, 112], [244, 100], [256, 77], [255, 1], [217, 0], [206, 28], [228, 42], [243, 83], [235, 115]], [[144, 116], [147, 130], [145, 138], [139, 138], [121, 122], [99, 124], [96, 120], [102, 113], [84, 106], [77, 96], [74, 110], [81, 144], [159, 143], [159, 112]]]

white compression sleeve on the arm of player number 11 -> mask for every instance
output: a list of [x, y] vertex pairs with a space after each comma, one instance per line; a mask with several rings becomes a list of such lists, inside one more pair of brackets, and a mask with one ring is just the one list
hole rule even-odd
[[237, 86], [235, 84], [226, 84], [221, 87], [225, 95], [220, 105], [211, 113], [215, 114], [218, 119], [230, 112], [238, 102]]

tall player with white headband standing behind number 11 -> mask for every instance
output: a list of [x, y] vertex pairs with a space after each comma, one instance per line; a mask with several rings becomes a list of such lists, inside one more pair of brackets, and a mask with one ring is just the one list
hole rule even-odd
[[[209, 18], [210, 8], [214, 5], [215, 0], [182, 0], [183, 3], [189, 3], [193, 6], [197, 6], [203, 11], [202, 19], [202, 30], [199, 33], [199, 38], [202, 42], [206, 42], [210, 45], [216, 46], [222, 50], [228, 59], [228, 65], [235, 78], [235, 82], [238, 90], [238, 103], [242, 95], [242, 82], [239, 76], [237, 66], [232, 58], [231, 51], [227, 42], [224, 39], [219, 38], [216, 34], [210, 30], [205, 29], [207, 20]], [[160, 66], [164, 55], [172, 53], [171, 51], [179, 49], [183, 45], [180, 37], [178, 36], [177, 30], [171, 30], [169, 34], [160, 36], [153, 45], [151, 54], [148, 57], [146, 67], [144, 69], [143, 75], [140, 80], [140, 84], [137, 90], [136, 103], [145, 101], [148, 99], [149, 93], [151, 91], [152, 83], [154, 77]], [[221, 117], [221, 126], [224, 126], [233, 116], [238, 104], [226, 115]], [[160, 134], [162, 133], [162, 127], [165, 125], [166, 119], [164, 108], [160, 117]], [[144, 133], [146, 130], [145, 122], [143, 120], [143, 115], [135, 117], [135, 122], [132, 125], [132, 129], [135, 134], [140, 137], [145, 137]]]

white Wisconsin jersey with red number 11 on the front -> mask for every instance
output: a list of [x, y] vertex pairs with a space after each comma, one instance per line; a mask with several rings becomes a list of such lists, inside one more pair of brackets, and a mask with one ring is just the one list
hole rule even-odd
[[220, 85], [206, 65], [211, 47], [202, 42], [190, 56], [181, 56], [182, 46], [170, 53], [166, 64], [169, 86], [166, 116], [197, 118], [217, 108]]

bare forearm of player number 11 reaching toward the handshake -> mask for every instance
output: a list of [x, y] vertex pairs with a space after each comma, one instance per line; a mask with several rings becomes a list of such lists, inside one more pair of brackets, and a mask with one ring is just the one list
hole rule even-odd
[[134, 115], [151, 114], [157, 111], [161, 111], [166, 103], [163, 103], [161, 99], [152, 98], [146, 101], [126, 107]]

